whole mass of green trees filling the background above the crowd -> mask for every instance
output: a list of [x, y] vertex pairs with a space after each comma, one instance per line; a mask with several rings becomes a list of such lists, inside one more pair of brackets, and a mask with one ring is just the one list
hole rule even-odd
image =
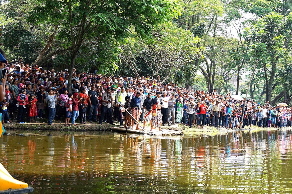
[[239, 95], [250, 82], [253, 99], [289, 104], [291, 8], [286, 0], [8, 0], [1, 43], [10, 61]]

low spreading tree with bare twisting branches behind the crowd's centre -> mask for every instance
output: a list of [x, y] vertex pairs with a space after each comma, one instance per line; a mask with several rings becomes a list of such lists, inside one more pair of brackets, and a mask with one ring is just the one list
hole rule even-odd
[[180, 67], [196, 60], [195, 57], [201, 56], [204, 50], [203, 47], [196, 47], [200, 38], [193, 37], [189, 30], [178, 28], [175, 24], [159, 26], [152, 34], [154, 37], [151, 39], [133, 35], [122, 45], [124, 51], [120, 54], [121, 61], [138, 77], [140, 72], [137, 59], [142, 61], [142, 65], [148, 66], [152, 78], [160, 76], [164, 82], [178, 72]]

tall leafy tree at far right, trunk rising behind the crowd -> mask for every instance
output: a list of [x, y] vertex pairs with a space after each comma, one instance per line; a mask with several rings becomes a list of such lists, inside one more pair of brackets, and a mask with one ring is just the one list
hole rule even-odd
[[[245, 37], [249, 44], [264, 43], [266, 45], [266, 56], [269, 57], [267, 63], [262, 63], [266, 82], [266, 100], [272, 102], [272, 86], [277, 73], [278, 60], [285, 52], [291, 50], [291, 46], [286, 47], [285, 35], [291, 35], [292, 14], [283, 15], [272, 13], [258, 19], [256, 24], [245, 31]], [[288, 44], [290, 45], [290, 44]]]

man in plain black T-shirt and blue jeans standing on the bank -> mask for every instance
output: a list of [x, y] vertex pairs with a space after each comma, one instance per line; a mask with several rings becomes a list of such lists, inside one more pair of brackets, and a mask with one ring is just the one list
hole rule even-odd
[[94, 122], [97, 122], [96, 120], [96, 113], [97, 113], [97, 106], [98, 106], [98, 95], [95, 91], [95, 85], [91, 84], [91, 90], [88, 91], [88, 104], [90, 106], [89, 112], [88, 112], [88, 121], [92, 123], [91, 119]]

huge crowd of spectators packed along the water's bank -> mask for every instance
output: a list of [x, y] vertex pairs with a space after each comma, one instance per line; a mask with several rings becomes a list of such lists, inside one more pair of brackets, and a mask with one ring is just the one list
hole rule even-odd
[[[0, 56], [1, 57], [1, 56]], [[76, 72], [68, 80], [69, 71], [45, 70], [38, 65], [4, 63], [7, 70], [5, 97], [0, 103], [3, 123], [65, 122], [65, 126], [86, 122], [114, 120], [124, 128], [139, 128], [150, 123], [151, 130], [161, 125], [185, 124], [188, 127], [221, 128], [291, 127], [291, 107], [270, 106], [247, 99], [232, 98], [214, 91], [179, 87], [162, 83], [160, 77], [104, 76]], [[72, 92], [67, 90], [68, 84]], [[4, 86], [3, 85], [3, 86]], [[0, 88], [1, 90], [1, 88]], [[1, 91], [0, 91], [1, 93]], [[244, 117], [243, 122], [241, 118]], [[71, 122], [70, 122], [71, 121]]]

